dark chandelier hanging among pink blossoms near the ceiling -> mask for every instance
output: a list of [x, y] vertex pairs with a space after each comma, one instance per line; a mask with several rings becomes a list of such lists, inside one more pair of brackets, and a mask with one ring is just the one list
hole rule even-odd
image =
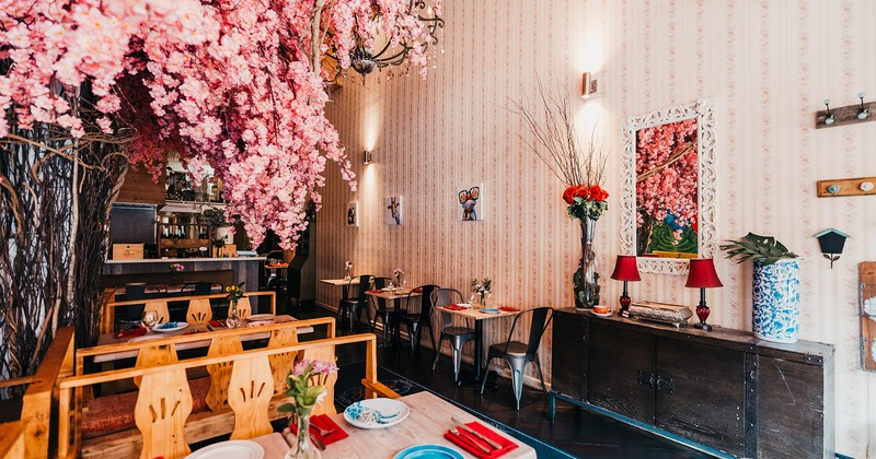
[[[408, 14], [413, 14], [414, 11], [416, 11], [417, 19], [426, 26], [427, 36], [420, 44], [425, 51], [429, 45], [438, 45], [436, 33], [439, 27], [443, 28], [445, 20], [438, 16], [431, 5], [426, 4], [425, 0], [411, 0], [407, 12]], [[374, 20], [379, 21], [379, 17]], [[393, 46], [393, 43], [388, 38], [383, 37], [381, 40], [381, 37], [378, 37], [374, 40], [373, 49], [369, 49], [366, 47], [365, 40], [361, 39], [358, 34], [355, 34], [355, 36], [356, 46], [353, 52], [350, 52], [350, 68], [362, 75], [362, 78], [377, 69], [404, 63], [404, 61], [407, 60], [408, 54], [414, 48], [413, 45], [406, 40], [402, 40]], [[328, 54], [328, 57], [337, 60], [337, 57], [331, 54]]]

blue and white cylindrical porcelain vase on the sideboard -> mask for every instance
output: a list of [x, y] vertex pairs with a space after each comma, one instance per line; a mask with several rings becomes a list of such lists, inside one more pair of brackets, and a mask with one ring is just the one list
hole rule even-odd
[[796, 260], [764, 266], [754, 261], [754, 337], [779, 343], [797, 341], [800, 326], [800, 267]]

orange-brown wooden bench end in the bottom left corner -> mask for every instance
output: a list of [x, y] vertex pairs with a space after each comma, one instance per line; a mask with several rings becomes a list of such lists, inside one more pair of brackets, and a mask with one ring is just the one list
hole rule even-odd
[[[55, 340], [49, 344], [43, 362], [33, 376], [0, 380], [0, 388], [28, 385], [22, 398], [19, 424], [11, 423], [10, 428], [22, 429], [26, 457], [49, 457], [53, 442], [49, 442], [53, 425], [58, 421], [58, 380], [73, 374], [74, 333], [72, 327], [60, 328]], [[5, 424], [4, 424], [5, 425]], [[9, 457], [15, 456], [19, 439], [12, 434], [7, 436], [5, 428], [0, 426], [3, 442], [11, 442]], [[3, 443], [3, 445], [7, 445]], [[5, 447], [5, 446], [2, 446]], [[0, 447], [0, 448], [2, 448]], [[7, 456], [3, 456], [7, 457]]]

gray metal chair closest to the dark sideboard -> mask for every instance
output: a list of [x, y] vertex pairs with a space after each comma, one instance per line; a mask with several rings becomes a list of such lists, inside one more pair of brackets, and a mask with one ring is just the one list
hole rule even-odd
[[[544, 376], [541, 373], [541, 364], [539, 363], [539, 344], [541, 344], [541, 337], [551, 325], [554, 310], [550, 307], [533, 307], [523, 310], [514, 318], [511, 331], [508, 333], [508, 341], [505, 343], [493, 344], [486, 356], [486, 366], [484, 367], [484, 375], [489, 370], [489, 361], [495, 357], [505, 358], [511, 369], [511, 386], [514, 387], [514, 397], [517, 400], [517, 409], [520, 410], [520, 397], [523, 395], [523, 370], [527, 364], [535, 362], [535, 369], [539, 370], [539, 380], [541, 381], [541, 390], [544, 392], [544, 398], [548, 398], [548, 388], [544, 386]], [[514, 331], [521, 317], [530, 316], [529, 326], [529, 342], [514, 341]], [[556, 363], [554, 363], [556, 364]], [[481, 395], [484, 393], [486, 387], [486, 377], [481, 384]]]

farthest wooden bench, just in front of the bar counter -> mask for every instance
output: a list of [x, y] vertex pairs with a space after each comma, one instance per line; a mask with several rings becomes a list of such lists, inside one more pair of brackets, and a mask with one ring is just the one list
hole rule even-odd
[[[277, 313], [277, 294], [275, 292], [247, 292], [238, 303], [238, 314], [246, 317], [252, 314], [252, 305], [250, 298], [267, 296], [270, 299], [270, 314]], [[101, 333], [112, 333], [116, 327], [116, 308], [124, 306], [139, 306], [145, 305], [145, 309], [153, 309], [159, 313], [159, 317], [163, 318], [164, 322], [170, 321], [170, 311], [168, 309], [169, 303], [185, 303], [188, 302], [188, 310], [186, 311], [186, 321], [209, 321], [212, 315], [210, 299], [227, 298], [227, 293], [217, 293], [214, 295], [191, 295], [191, 296], [169, 296], [162, 298], [149, 299], [129, 299], [124, 302], [112, 301], [112, 295], [104, 295], [106, 299], [103, 303], [101, 311]], [[230, 309], [230, 305], [229, 305]], [[210, 317], [205, 318], [197, 314], [209, 313]], [[197, 316], [196, 316], [197, 315]]]

